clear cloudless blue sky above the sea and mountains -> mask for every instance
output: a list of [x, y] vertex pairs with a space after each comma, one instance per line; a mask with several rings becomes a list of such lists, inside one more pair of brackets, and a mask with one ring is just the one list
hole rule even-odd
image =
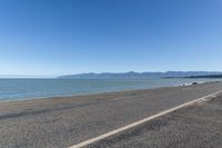
[[0, 0], [0, 75], [222, 71], [222, 0]]

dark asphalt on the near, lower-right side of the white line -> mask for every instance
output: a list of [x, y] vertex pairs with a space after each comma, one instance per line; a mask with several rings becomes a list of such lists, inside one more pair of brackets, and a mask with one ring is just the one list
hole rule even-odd
[[222, 96], [193, 103], [88, 148], [221, 148]]

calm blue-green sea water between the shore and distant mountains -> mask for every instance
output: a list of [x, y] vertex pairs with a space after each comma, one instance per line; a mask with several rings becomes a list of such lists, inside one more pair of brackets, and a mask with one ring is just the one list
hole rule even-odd
[[75, 80], [75, 79], [0, 79], [0, 100], [36, 99], [71, 95], [88, 95], [131, 89], [149, 89], [190, 83], [216, 81], [218, 79], [163, 79], [143, 80]]

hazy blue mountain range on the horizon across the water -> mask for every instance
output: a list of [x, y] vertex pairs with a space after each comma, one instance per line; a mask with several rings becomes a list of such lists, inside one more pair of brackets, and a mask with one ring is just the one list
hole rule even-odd
[[209, 75], [222, 75], [218, 71], [167, 71], [167, 72], [122, 72], [122, 73], [79, 73], [79, 75], [68, 75], [58, 77], [59, 79], [144, 79], [151, 77], [164, 77], [164, 78], [176, 78], [176, 77], [200, 77]]

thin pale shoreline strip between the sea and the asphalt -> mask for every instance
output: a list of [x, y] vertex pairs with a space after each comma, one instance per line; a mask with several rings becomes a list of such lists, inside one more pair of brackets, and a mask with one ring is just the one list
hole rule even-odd
[[27, 98], [27, 99], [14, 99], [14, 100], [0, 100], [0, 103], [8, 103], [8, 102], [21, 102], [21, 101], [36, 101], [36, 100], [50, 100], [50, 99], [68, 99], [73, 97], [89, 97], [89, 96], [98, 96], [98, 95], [113, 95], [113, 93], [124, 93], [131, 91], [145, 91], [145, 90], [158, 90], [158, 89], [167, 89], [167, 88], [176, 88], [176, 87], [189, 87], [189, 86], [199, 86], [204, 83], [216, 83], [220, 81], [199, 81], [196, 85], [193, 85], [196, 81], [190, 83], [181, 83], [174, 86], [165, 86], [165, 87], [155, 87], [155, 88], [148, 88], [148, 89], [127, 89], [127, 90], [117, 90], [117, 91], [107, 91], [107, 92], [94, 92], [94, 93], [80, 93], [80, 95], [65, 95], [65, 96], [54, 96], [54, 97], [38, 97], [38, 98]]

